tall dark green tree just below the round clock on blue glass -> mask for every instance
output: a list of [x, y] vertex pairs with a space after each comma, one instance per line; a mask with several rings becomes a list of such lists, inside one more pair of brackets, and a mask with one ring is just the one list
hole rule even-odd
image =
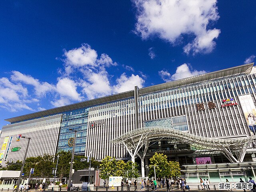
[[60, 151], [55, 156], [55, 162], [57, 162], [57, 156], [59, 155], [59, 162], [57, 168], [57, 174], [62, 180], [63, 177], [68, 177], [70, 172], [70, 163], [72, 154], [71, 152]]

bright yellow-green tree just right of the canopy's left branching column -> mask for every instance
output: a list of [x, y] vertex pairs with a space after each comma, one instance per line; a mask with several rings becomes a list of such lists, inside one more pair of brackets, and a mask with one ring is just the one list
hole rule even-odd
[[[164, 154], [155, 153], [152, 158], [150, 158], [150, 165], [156, 166], [156, 177], [163, 178], [164, 176], [170, 175], [170, 164], [167, 161], [167, 156]], [[154, 167], [150, 167], [149, 174], [154, 176]]]

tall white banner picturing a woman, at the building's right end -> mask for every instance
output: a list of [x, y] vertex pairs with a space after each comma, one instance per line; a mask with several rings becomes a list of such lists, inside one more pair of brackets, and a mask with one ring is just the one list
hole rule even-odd
[[250, 94], [238, 96], [244, 112], [246, 122], [254, 135], [256, 135], [256, 108]]

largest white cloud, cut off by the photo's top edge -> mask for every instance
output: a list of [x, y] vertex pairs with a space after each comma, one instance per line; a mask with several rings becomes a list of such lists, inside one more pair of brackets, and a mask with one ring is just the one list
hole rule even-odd
[[180, 42], [184, 35], [195, 36], [184, 46], [184, 52], [196, 54], [211, 52], [220, 34], [219, 29], [209, 29], [217, 21], [216, 0], [133, 0], [137, 8], [135, 30], [142, 39], [158, 36], [171, 44]]

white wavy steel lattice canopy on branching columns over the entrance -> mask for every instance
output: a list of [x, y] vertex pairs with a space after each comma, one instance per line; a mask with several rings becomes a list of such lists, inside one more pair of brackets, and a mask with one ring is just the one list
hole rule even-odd
[[[166, 127], [144, 127], [132, 130], [123, 134], [110, 142], [113, 144], [123, 144], [134, 162], [135, 156], [142, 160], [146, 155], [150, 141], [170, 140], [174, 142], [183, 142], [194, 146], [196, 150], [213, 150], [222, 152], [230, 162], [243, 162], [244, 155], [250, 143], [256, 140], [256, 136], [244, 138], [206, 138], [196, 136], [186, 131]], [[138, 151], [144, 146], [144, 152], [141, 156]]]

